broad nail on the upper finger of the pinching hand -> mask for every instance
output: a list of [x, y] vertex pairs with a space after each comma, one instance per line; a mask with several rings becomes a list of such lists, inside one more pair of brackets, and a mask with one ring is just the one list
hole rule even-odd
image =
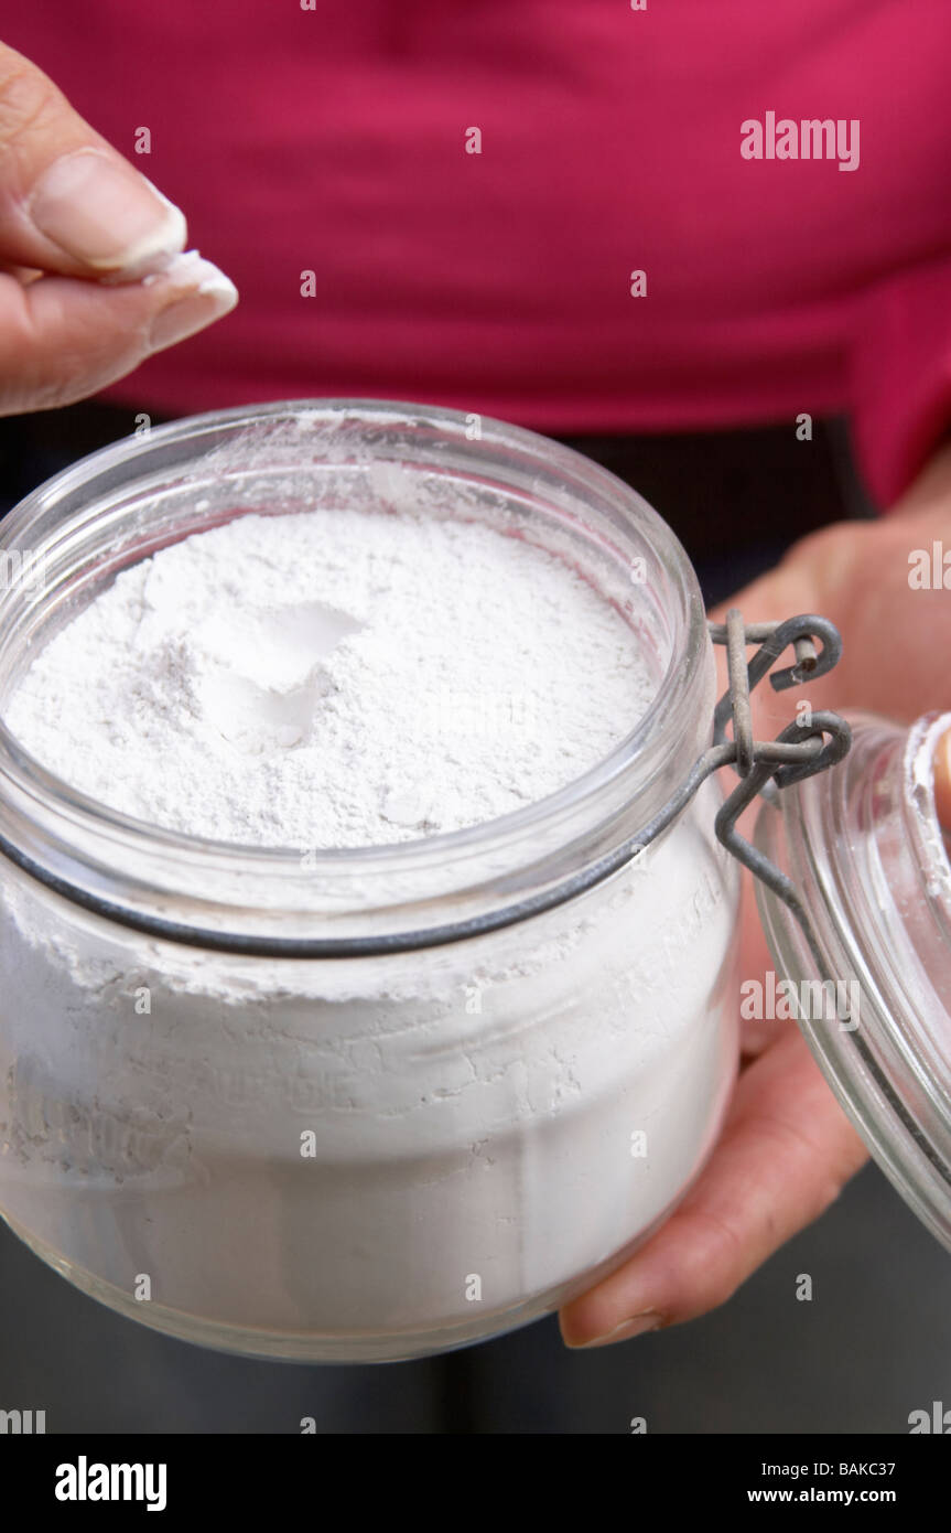
[[133, 279], [182, 250], [185, 216], [124, 159], [78, 149], [54, 159], [28, 204], [34, 227], [74, 261]]

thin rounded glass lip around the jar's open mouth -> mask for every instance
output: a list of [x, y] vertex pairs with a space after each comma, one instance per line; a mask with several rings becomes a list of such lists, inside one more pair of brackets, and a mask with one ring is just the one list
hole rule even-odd
[[[458, 831], [387, 845], [314, 849], [314, 855], [308, 858], [311, 881], [332, 881], [343, 872], [364, 878], [387, 872], [412, 875], [415, 871], [432, 869], [433, 865], [446, 868], [464, 863], [475, 852], [485, 857], [498, 851], [505, 862], [505, 848], [539, 835], [544, 839], [560, 820], [576, 828], [585, 819], [585, 811], [594, 811], [587, 816], [594, 829], [597, 803], [609, 789], [626, 786], [625, 797], [629, 800], [643, 788], [637, 768], [645, 762], [648, 745], [651, 757], [675, 751], [675, 744], [685, 733], [685, 713], [691, 701], [695, 702], [704, 690], [700, 673], [704, 658], [709, 659], [706, 615], [695, 573], [672, 529], [637, 491], [574, 449], [487, 415], [478, 419], [478, 452], [473, 458], [481, 458], [487, 469], [505, 452], [515, 454], [521, 463], [533, 463], [539, 469], [544, 466], [545, 474], [560, 477], [582, 497], [588, 495], [617, 512], [651, 547], [669, 583], [666, 596], [671, 645], [666, 671], [648, 708], [614, 750], [556, 793]], [[127, 492], [145, 481], [156, 463], [167, 464], [165, 472], [168, 468], [179, 471], [188, 463], [201, 469], [208, 457], [214, 458], [219, 448], [240, 446], [248, 434], [274, 423], [296, 431], [317, 431], [322, 426], [331, 431], [346, 426], [348, 431], [384, 434], [417, 431], [430, 445], [450, 443], [459, 449], [462, 443], [473, 446], [467, 435], [470, 420], [472, 415], [443, 406], [366, 399], [280, 400], [182, 417], [150, 428], [145, 435], [110, 443], [40, 484], [5, 518], [0, 527], [0, 553], [18, 546], [32, 549], [35, 533], [41, 529], [46, 535], [61, 538], [83, 517], [89, 518], [90, 512], [95, 518], [107, 494], [116, 489]], [[0, 610], [8, 593], [0, 595]], [[8, 627], [0, 641], [0, 656], [9, 644]], [[712, 661], [709, 665], [712, 670]], [[214, 842], [126, 816], [46, 770], [0, 719], [0, 816], [14, 800], [20, 816], [25, 809], [28, 814], [32, 809], [38, 817], [55, 819], [60, 837], [67, 843], [74, 842], [69, 846], [74, 862], [77, 854], [83, 860], [80, 843], [87, 846], [90, 839], [100, 837], [112, 845], [127, 846], [133, 855], [158, 852], [165, 863], [179, 863], [185, 875], [196, 871], [196, 863], [207, 868], [210, 862], [222, 871], [240, 868], [250, 874], [277, 872], [285, 877], [294, 865], [300, 866], [300, 848]], [[643, 819], [648, 819], [646, 812]], [[18, 854], [14, 860], [21, 866], [32, 860], [29, 871], [34, 874], [41, 871], [43, 858], [34, 855], [29, 846], [18, 846], [8, 828], [0, 826], [0, 849], [8, 855], [11, 849]], [[603, 851], [603, 846], [599, 845], [597, 851]]]

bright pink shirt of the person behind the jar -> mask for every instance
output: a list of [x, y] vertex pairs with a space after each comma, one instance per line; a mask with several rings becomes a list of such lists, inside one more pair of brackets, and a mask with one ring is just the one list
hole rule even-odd
[[884, 503], [949, 423], [948, 0], [84, 0], [3, 35], [242, 294], [107, 397], [551, 432], [848, 409]]

